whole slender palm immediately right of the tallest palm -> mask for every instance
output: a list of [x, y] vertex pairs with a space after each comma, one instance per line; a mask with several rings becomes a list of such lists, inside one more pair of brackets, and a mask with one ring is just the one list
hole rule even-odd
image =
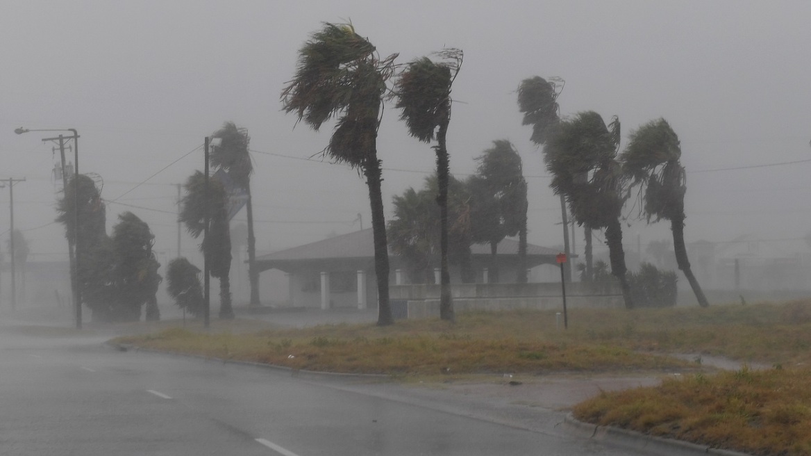
[[454, 320], [451, 276], [448, 270], [448, 146], [446, 136], [451, 119], [451, 86], [462, 62], [460, 49], [440, 53], [444, 62], [423, 57], [408, 63], [397, 80], [397, 108], [402, 110], [411, 136], [430, 143], [436, 139], [436, 203], [440, 206], [440, 318]]

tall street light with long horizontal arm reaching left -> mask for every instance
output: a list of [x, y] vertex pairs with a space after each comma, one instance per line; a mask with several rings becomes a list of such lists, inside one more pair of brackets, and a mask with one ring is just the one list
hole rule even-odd
[[28, 131], [71, 131], [73, 136], [59, 135], [56, 138], [43, 138], [43, 141], [58, 141], [59, 154], [62, 158], [62, 191], [67, 191], [67, 174], [65, 173], [65, 140], [73, 140], [73, 166], [74, 166], [74, 183], [75, 188], [73, 191], [73, 238], [67, 239], [67, 256], [70, 261], [71, 267], [71, 288], [73, 291], [73, 303], [75, 306], [76, 315], [76, 329], [82, 329], [82, 303], [81, 293], [79, 290], [79, 204], [77, 194], [79, 193], [79, 183], [76, 181], [76, 176], [79, 175], [79, 133], [75, 128], [15, 128], [14, 132], [18, 135], [28, 133]]

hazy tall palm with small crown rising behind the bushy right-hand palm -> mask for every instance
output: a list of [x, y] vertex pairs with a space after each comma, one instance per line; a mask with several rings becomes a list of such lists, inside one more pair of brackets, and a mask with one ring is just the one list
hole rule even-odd
[[[532, 126], [530, 140], [534, 144], [543, 145], [547, 142], [551, 131], [560, 122], [560, 105], [557, 97], [563, 92], [564, 81], [558, 78], [545, 80], [540, 76], [533, 76], [522, 80], [518, 85], [518, 110], [524, 114], [522, 125]], [[569, 256], [569, 214], [566, 211], [566, 200], [560, 195], [560, 215], [563, 219], [564, 252]], [[590, 228], [586, 227], [586, 277], [591, 272], [591, 236]], [[572, 262], [564, 265], [566, 280], [572, 277]]]

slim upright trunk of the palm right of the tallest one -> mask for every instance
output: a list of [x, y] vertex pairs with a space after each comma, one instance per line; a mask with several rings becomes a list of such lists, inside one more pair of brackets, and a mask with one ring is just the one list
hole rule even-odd
[[453, 302], [451, 301], [451, 274], [448, 271], [448, 148], [445, 136], [448, 122], [440, 124], [436, 134], [436, 179], [439, 184], [439, 195], [436, 202], [440, 205], [440, 320], [453, 321]]

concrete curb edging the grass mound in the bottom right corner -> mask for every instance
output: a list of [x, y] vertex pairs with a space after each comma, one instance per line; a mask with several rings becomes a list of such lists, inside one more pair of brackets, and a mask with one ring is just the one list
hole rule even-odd
[[642, 432], [630, 431], [628, 429], [583, 423], [575, 419], [572, 414], [566, 415], [564, 428], [578, 437], [593, 439], [595, 441], [606, 441], [612, 445], [619, 445], [632, 450], [644, 450], [650, 454], [660, 456], [692, 456], [695, 454], [751, 456], [750, 454], [740, 453], [738, 451], [711, 448], [707, 445], [698, 445], [689, 441], [649, 436]]

